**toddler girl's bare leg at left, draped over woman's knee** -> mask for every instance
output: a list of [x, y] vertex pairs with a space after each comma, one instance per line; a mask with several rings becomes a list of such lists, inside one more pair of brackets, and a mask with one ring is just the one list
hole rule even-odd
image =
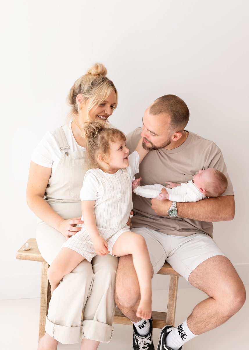
[[61, 248], [48, 268], [47, 276], [51, 285], [51, 294], [59, 286], [62, 278], [80, 264], [85, 258], [70, 248]]

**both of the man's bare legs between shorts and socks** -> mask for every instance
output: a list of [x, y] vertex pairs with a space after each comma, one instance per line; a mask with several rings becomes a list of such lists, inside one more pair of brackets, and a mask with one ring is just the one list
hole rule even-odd
[[[153, 272], [152, 272], [153, 273]], [[209, 298], [200, 302], [188, 317], [189, 329], [202, 334], [226, 322], [243, 306], [244, 285], [232, 263], [217, 255], [203, 261], [189, 276], [189, 282]], [[131, 255], [120, 257], [116, 277], [115, 302], [131, 321], [138, 322], [139, 285]]]

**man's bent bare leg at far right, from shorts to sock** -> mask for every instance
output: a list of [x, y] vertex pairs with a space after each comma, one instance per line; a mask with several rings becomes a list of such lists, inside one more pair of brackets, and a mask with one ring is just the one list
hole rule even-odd
[[222, 255], [203, 261], [191, 272], [189, 282], [209, 295], [187, 319], [189, 329], [196, 335], [226, 322], [246, 300], [240, 277], [231, 262]]

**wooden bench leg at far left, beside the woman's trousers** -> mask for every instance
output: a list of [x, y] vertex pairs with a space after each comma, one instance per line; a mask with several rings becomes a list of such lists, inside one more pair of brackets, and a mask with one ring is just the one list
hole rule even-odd
[[40, 290], [40, 320], [39, 320], [39, 340], [45, 334], [45, 323], [48, 311], [48, 304], [51, 299], [50, 283], [47, 279], [48, 263], [42, 262], [42, 279]]

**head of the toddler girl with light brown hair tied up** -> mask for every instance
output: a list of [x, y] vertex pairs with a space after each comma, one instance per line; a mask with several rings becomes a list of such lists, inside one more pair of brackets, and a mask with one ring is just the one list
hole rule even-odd
[[[110, 166], [111, 160], [113, 161], [113, 158], [114, 165], [117, 163], [116, 165], [119, 166], [120, 160], [115, 163], [115, 155], [114, 157], [112, 155], [113, 152], [116, 151], [116, 144], [117, 146], [120, 144], [120, 147], [125, 148], [125, 134], [102, 121], [86, 122], [84, 126], [86, 154], [88, 155], [90, 168], [100, 168], [108, 172], [108, 167]], [[127, 151], [129, 153], [128, 149]], [[118, 168], [127, 167], [129, 165], [128, 159], [126, 162], [124, 157], [121, 156], [120, 158], [122, 158], [121, 161], [123, 161], [124, 164], [121, 164], [121, 166]]]

